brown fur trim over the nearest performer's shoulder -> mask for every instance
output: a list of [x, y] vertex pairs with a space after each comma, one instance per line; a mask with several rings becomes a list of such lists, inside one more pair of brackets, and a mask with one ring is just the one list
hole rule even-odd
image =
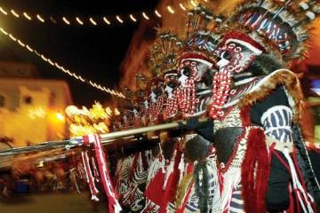
[[303, 94], [300, 82], [294, 73], [289, 69], [277, 69], [265, 78], [239, 100], [238, 106], [252, 106], [256, 101], [266, 99], [277, 86], [284, 85], [285, 90], [293, 100], [293, 122], [300, 121], [300, 109], [303, 106]]

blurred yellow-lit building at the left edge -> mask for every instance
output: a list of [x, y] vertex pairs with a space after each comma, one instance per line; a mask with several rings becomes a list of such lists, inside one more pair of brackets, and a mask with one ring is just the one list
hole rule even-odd
[[72, 104], [65, 81], [37, 78], [28, 63], [0, 62], [0, 138], [29, 146], [68, 138], [65, 108]]

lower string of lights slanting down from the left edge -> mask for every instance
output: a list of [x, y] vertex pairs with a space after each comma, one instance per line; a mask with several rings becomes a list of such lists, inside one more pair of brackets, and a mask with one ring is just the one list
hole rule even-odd
[[15, 36], [12, 36], [12, 34], [6, 32], [4, 30], [4, 28], [0, 28], [0, 32], [4, 35], [4, 36], [8, 36], [13, 42], [18, 43], [21, 47], [27, 49], [28, 51], [34, 53], [37, 57], [43, 59], [45, 62], [47, 62], [48, 64], [50, 64], [52, 67], [56, 67], [58, 68], [60, 71], [62, 71], [65, 74], [68, 74], [69, 76], [71, 76], [72, 78], [76, 79], [77, 81], [81, 82], [81, 83], [88, 83], [89, 85], [91, 85], [92, 87], [100, 90], [100, 91], [105, 91], [108, 92], [110, 95], [116, 96], [118, 98], [124, 98], [124, 94], [118, 91], [114, 91], [112, 89], [109, 89], [105, 86], [100, 85], [100, 83], [95, 83], [90, 79], [86, 79], [84, 78], [84, 76], [82, 75], [76, 75], [76, 73], [70, 71], [69, 69], [61, 66], [59, 63], [57, 63], [56, 61], [54, 61], [53, 59], [50, 59], [46, 56], [44, 56], [44, 54], [40, 53], [39, 51], [36, 51], [34, 48], [32, 48], [29, 44], [22, 42], [20, 39], [16, 38]]

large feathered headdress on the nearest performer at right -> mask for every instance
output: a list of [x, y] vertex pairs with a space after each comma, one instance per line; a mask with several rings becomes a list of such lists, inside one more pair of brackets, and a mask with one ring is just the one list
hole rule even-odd
[[246, 1], [222, 25], [222, 33], [228, 28], [223, 40], [236, 39], [248, 48], [272, 53], [284, 62], [291, 62], [305, 55], [310, 22], [319, 13], [320, 3], [316, 0]]

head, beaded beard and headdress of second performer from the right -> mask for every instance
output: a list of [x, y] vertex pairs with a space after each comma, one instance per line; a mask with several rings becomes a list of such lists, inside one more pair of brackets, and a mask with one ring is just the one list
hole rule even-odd
[[183, 117], [206, 115], [215, 68], [213, 51], [218, 43], [210, 33], [215, 27], [216, 21], [208, 8], [197, 6], [188, 12], [178, 65], [177, 98]]

